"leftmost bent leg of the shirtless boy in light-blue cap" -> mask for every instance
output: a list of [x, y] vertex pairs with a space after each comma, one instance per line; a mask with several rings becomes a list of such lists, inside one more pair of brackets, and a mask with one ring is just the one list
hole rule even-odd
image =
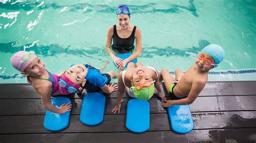
[[167, 91], [169, 91], [172, 82], [175, 81], [174, 77], [169, 73], [167, 69], [162, 69], [159, 74], [159, 82], [164, 80], [164, 85]]

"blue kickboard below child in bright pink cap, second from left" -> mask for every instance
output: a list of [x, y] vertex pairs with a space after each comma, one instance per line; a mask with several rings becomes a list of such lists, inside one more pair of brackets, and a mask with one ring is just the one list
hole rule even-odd
[[85, 125], [96, 126], [103, 122], [106, 97], [99, 92], [90, 92], [84, 96], [80, 121]]

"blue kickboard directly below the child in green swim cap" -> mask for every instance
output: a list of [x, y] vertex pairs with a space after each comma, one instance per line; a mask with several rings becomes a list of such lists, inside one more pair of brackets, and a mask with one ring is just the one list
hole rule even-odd
[[126, 127], [135, 133], [150, 128], [150, 104], [141, 99], [131, 99], [127, 104]]

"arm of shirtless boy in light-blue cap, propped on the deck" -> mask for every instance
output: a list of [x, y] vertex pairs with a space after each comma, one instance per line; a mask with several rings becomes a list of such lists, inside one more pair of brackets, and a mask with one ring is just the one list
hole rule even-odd
[[198, 97], [200, 92], [204, 89], [206, 82], [203, 80], [198, 80], [196, 83], [192, 83], [192, 87], [190, 93], [186, 98], [179, 99], [179, 100], [165, 100], [166, 103], [163, 103], [162, 106], [169, 107], [172, 105], [187, 105], [192, 104], [194, 100]]

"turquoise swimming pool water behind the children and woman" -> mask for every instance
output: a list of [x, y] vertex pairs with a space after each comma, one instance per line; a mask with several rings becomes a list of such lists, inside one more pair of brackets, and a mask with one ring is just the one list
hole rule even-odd
[[[114, 69], [105, 52], [107, 28], [117, 23], [116, 1], [0, 1], [0, 83], [25, 83], [10, 65], [19, 50], [33, 50], [52, 73], [71, 64]], [[128, 1], [131, 23], [142, 31], [145, 66], [171, 73], [192, 66], [208, 44], [225, 59], [208, 81], [256, 80], [256, 1]], [[114, 69], [118, 71], [117, 69]]]

